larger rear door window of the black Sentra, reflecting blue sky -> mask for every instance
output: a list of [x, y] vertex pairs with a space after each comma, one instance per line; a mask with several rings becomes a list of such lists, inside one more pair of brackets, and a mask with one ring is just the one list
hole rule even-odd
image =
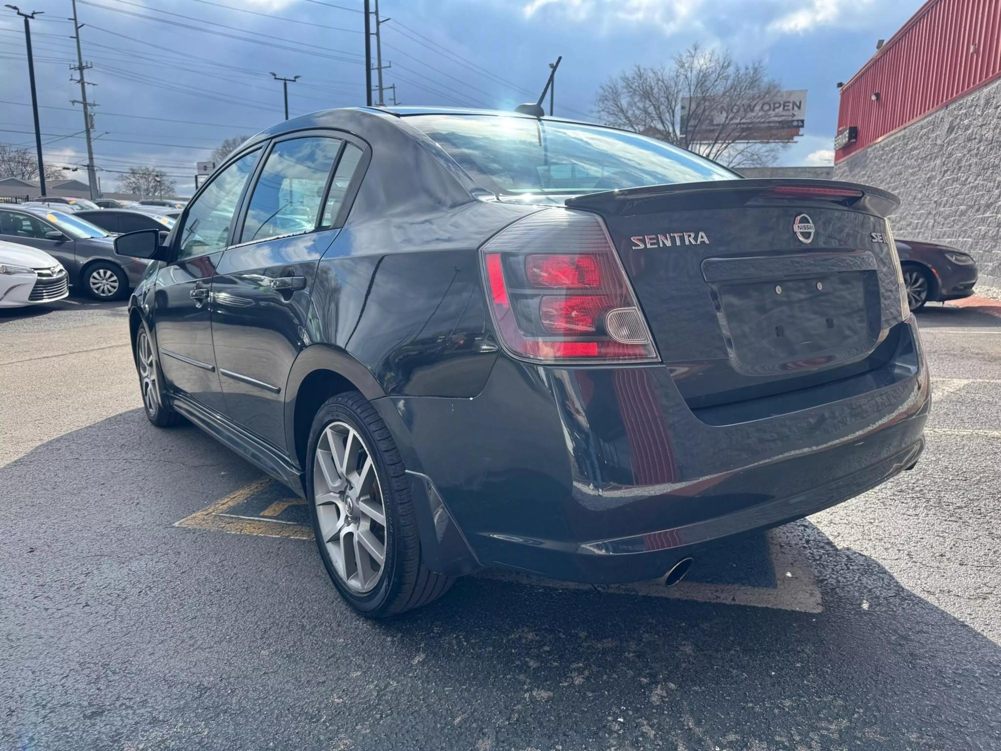
[[340, 139], [325, 136], [276, 143], [254, 185], [240, 242], [308, 232], [315, 227], [340, 144]]

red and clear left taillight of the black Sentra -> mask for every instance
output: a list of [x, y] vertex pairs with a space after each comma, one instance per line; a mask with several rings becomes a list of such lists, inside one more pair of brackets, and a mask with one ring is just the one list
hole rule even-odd
[[514, 355], [541, 362], [651, 362], [657, 348], [601, 218], [548, 208], [481, 248], [493, 323]]

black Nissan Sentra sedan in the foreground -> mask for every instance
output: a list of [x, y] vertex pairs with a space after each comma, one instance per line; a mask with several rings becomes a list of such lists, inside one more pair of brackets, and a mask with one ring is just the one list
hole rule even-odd
[[356, 108], [259, 133], [167, 242], [115, 246], [157, 261], [129, 302], [149, 421], [305, 498], [382, 617], [483, 567], [670, 585], [913, 467], [898, 204], [615, 128]]

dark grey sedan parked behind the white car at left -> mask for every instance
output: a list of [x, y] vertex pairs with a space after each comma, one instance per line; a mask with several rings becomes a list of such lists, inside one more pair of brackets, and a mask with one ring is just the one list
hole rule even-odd
[[54, 205], [49, 209], [0, 204], [0, 240], [54, 256], [69, 274], [69, 285], [91, 297], [124, 297], [149, 261], [116, 255], [109, 233], [81, 219], [80, 213], [64, 213]]

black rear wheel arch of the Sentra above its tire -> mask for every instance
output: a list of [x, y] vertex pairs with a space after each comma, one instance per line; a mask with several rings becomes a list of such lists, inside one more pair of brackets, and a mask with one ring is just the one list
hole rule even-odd
[[299, 352], [285, 385], [285, 443], [300, 468], [313, 416], [330, 397], [349, 391], [369, 401], [385, 396], [371, 371], [343, 349], [312, 344]]

